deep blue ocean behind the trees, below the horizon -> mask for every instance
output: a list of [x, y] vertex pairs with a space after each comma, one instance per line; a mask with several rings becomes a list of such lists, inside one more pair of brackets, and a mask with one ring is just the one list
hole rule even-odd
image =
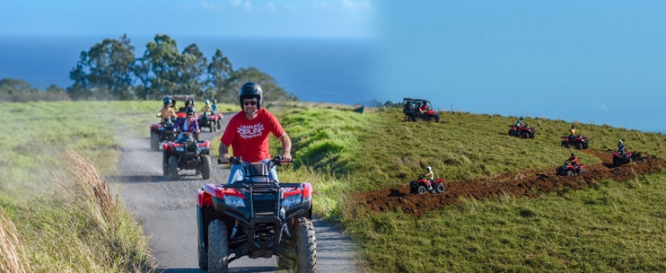
[[[82, 51], [102, 40], [93, 36], [0, 36], [0, 79], [21, 79], [33, 87], [72, 85], [69, 72]], [[141, 57], [153, 36], [132, 37]], [[234, 38], [171, 36], [182, 52], [190, 44], [210, 60], [222, 50], [233, 69], [254, 66], [273, 76], [279, 86], [301, 101], [368, 105], [376, 99], [377, 56], [372, 40], [317, 38]]]

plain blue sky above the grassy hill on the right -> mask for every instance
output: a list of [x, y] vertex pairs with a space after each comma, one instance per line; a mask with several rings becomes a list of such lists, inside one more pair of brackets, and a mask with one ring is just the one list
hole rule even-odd
[[[377, 7], [381, 101], [666, 132], [666, 1]], [[563, 131], [565, 128], [563, 128]]]

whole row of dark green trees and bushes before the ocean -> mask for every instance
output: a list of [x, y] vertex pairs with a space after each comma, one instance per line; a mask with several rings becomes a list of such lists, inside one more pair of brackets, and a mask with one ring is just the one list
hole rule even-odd
[[234, 70], [222, 50], [208, 60], [196, 43], [181, 52], [176, 40], [156, 34], [136, 57], [127, 34], [104, 39], [82, 51], [69, 72], [73, 84], [62, 89], [52, 84], [41, 92], [12, 78], [0, 80], [0, 101], [56, 100], [154, 100], [171, 94], [194, 94], [197, 98], [236, 103], [246, 82], [257, 82], [269, 101], [297, 101], [276, 80], [250, 66]]

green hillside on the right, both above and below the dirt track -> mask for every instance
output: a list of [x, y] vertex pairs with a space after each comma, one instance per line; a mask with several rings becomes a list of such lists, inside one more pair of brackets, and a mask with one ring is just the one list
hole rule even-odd
[[[562, 120], [528, 117], [534, 139], [508, 137], [512, 117], [446, 112], [440, 123], [412, 123], [391, 109], [366, 120], [372, 124], [356, 131], [355, 147], [339, 153], [355, 159], [341, 167], [349, 192], [404, 187], [428, 165], [448, 181], [553, 172], [574, 152], [559, 146], [570, 126]], [[623, 139], [632, 150], [666, 156], [661, 134], [575, 124], [592, 138], [591, 149], [605, 152]], [[600, 163], [577, 154], [582, 163]], [[466, 199], [422, 217], [400, 209], [359, 215], [348, 196], [336, 204], [369, 271], [663, 271], [664, 181], [662, 173], [536, 199]]]

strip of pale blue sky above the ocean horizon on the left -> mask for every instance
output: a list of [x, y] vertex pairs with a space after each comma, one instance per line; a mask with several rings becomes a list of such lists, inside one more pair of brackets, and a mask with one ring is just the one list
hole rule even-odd
[[[0, 35], [372, 35], [360, 0], [0, 0]], [[9, 26], [12, 27], [9, 27]]]

